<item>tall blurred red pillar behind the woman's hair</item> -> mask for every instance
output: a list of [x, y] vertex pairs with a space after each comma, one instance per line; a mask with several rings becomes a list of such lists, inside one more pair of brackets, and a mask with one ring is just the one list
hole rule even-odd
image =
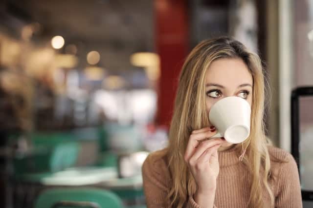
[[156, 51], [160, 56], [156, 123], [169, 126], [178, 76], [188, 52], [187, 0], [155, 0]]

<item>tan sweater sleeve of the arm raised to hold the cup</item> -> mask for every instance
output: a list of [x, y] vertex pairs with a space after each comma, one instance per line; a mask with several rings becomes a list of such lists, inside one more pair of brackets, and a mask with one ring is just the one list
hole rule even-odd
[[[168, 200], [170, 174], [167, 165], [157, 153], [151, 153], [142, 166], [143, 188], [148, 208], [169, 208]], [[192, 196], [185, 208], [199, 208]]]

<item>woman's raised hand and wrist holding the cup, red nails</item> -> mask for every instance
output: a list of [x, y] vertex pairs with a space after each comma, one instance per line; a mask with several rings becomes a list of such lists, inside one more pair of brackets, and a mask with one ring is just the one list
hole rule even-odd
[[197, 185], [195, 201], [202, 206], [207, 206], [207, 203], [213, 206], [216, 179], [220, 171], [217, 149], [225, 143], [225, 140], [221, 138], [207, 139], [215, 134], [215, 128], [206, 127], [194, 130], [189, 137], [184, 155], [184, 160], [190, 167]]

